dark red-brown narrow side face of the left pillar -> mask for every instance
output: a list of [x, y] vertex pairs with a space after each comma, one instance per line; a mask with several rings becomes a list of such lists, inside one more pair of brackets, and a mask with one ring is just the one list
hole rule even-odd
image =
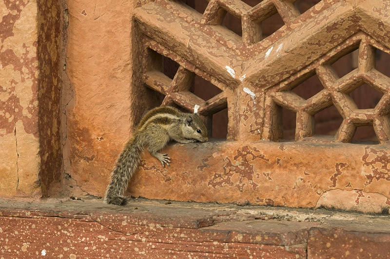
[[47, 195], [50, 184], [61, 178], [60, 89], [61, 16], [58, 0], [39, 0], [39, 180]]

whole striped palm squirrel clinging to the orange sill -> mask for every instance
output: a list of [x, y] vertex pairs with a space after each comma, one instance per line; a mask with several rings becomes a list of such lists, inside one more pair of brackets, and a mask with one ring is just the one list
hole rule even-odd
[[104, 202], [126, 205], [129, 198], [123, 196], [130, 178], [137, 170], [141, 154], [147, 146], [149, 153], [169, 165], [168, 154], [160, 154], [170, 140], [179, 143], [206, 142], [207, 128], [197, 113], [184, 113], [171, 106], [160, 106], [150, 110], [137, 125], [117, 159], [111, 173], [110, 184]]

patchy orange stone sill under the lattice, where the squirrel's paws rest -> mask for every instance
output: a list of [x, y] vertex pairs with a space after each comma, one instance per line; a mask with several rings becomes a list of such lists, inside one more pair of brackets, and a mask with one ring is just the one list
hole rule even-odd
[[[176, 143], [161, 153], [172, 158], [170, 166], [162, 167], [144, 152], [129, 185], [131, 195], [224, 203], [247, 199], [257, 205], [363, 213], [390, 208], [388, 145], [212, 141]], [[78, 183], [88, 193], [97, 190], [86, 186], [90, 182]]]

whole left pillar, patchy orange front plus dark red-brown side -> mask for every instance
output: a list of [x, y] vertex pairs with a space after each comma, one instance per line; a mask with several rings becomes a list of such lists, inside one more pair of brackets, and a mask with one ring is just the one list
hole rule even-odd
[[59, 3], [0, 1], [0, 195], [59, 179]]

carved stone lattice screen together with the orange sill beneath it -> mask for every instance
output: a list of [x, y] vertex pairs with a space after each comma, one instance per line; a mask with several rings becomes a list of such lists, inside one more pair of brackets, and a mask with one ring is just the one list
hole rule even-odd
[[[177, 152], [172, 148], [171, 153], [201, 161], [191, 166], [206, 172], [207, 176], [199, 177], [207, 184], [189, 187], [206, 193], [199, 199], [194, 198], [196, 190], [184, 187], [181, 194], [191, 193], [185, 197], [155, 195], [144, 188], [144, 181], [153, 180], [146, 175], [156, 170], [176, 187], [184, 182], [183, 178], [175, 182], [146, 161], [130, 191], [157, 199], [248, 199], [299, 207], [337, 207], [331, 199], [342, 195], [346, 201], [337, 208], [388, 208], [390, 78], [376, 70], [375, 53], [390, 53], [390, 14], [386, 12], [390, 1], [321, 0], [302, 14], [295, 0], [199, 1], [207, 5], [204, 13], [187, 2], [138, 3], [134, 55], [141, 68], [133, 69], [132, 87], [140, 89], [143, 84], [159, 93], [158, 98], [163, 95], [162, 104], [197, 111], [209, 128], [212, 115], [227, 108], [227, 140], [234, 141], [199, 144], [188, 153], [188, 145], [177, 145]], [[221, 25], [227, 14], [241, 20], [242, 37]], [[262, 33], [265, 20], [275, 14], [284, 25], [266, 37]], [[332, 64], [355, 50], [357, 68], [339, 77]], [[167, 59], [179, 65], [173, 79], [164, 73]], [[191, 91], [195, 75], [221, 92], [209, 100], [197, 97]], [[322, 90], [308, 99], [293, 92], [313, 75]], [[363, 84], [383, 94], [373, 108], [359, 109], [350, 95]], [[331, 106], [342, 123], [334, 135], [317, 135], [315, 115]], [[295, 141], [284, 140], [283, 110], [296, 116]], [[373, 127], [378, 144], [349, 144], [361, 126]], [[367, 209], [363, 204], [376, 207]]]

